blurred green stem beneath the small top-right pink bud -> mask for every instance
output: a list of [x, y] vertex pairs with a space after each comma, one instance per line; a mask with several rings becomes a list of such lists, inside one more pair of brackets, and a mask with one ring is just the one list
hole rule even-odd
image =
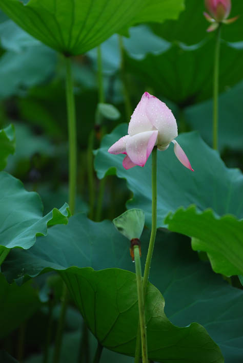
[[218, 150], [218, 74], [221, 24], [216, 30], [216, 44], [214, 53], [214, 76], [213, 76], [213, 148]]

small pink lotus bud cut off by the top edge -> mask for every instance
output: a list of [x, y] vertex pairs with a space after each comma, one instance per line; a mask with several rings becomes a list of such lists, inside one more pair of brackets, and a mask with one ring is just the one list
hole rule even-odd
[[238, 16], [235, 16], [227, 19], [231, 11], [231, 0], [205, 0], [205, 7], [210, 15], [205, 12], [204, 16], [208, 22], [212, 23], [207, 29], [208, 32], [217, 29], [219, 23], [231, 24], [238, 18]]

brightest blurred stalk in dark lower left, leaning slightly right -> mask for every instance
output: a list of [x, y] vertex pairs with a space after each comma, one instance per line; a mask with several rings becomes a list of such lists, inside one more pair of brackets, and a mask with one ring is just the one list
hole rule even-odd
[[60, 350], [62, 348], [63, 331], [66, 318], [66, 310], [68, 305], [68, 289], [66, 284], [63, 285], [63, 298], [58, 325], [56, 329], [55, 347], [53, 354], [53, 363], [58, 363], [60, 359]]

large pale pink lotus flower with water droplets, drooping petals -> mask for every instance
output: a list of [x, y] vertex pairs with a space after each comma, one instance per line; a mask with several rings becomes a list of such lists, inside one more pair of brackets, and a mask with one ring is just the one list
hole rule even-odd
[[108, 150], [110, 154], [126, 154], [125, 169], [144, 166], [153, 147], [165, 151], [170, 142], [174, 143], [174, 153], [188, 169], [194, 170], [174, 138], [178, 136], [177, 124], [171, 110], [164, 102], [145, 92], [134, 110], [128, 126], [128, 135], [116, 141]]

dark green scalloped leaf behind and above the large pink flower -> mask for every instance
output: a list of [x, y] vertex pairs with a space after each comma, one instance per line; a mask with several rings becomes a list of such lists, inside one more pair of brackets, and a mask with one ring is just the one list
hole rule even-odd
[[[212, 97], [214, 47], [213, 40], [191, 47], [176, 43], [166, 52], [148, 54], [139, 61], [127, 56], [126, 65], [146, 87], [184, 107]], [[243, 78], [242, 62], [242, 45], [222, 42], [220, 92]]]

